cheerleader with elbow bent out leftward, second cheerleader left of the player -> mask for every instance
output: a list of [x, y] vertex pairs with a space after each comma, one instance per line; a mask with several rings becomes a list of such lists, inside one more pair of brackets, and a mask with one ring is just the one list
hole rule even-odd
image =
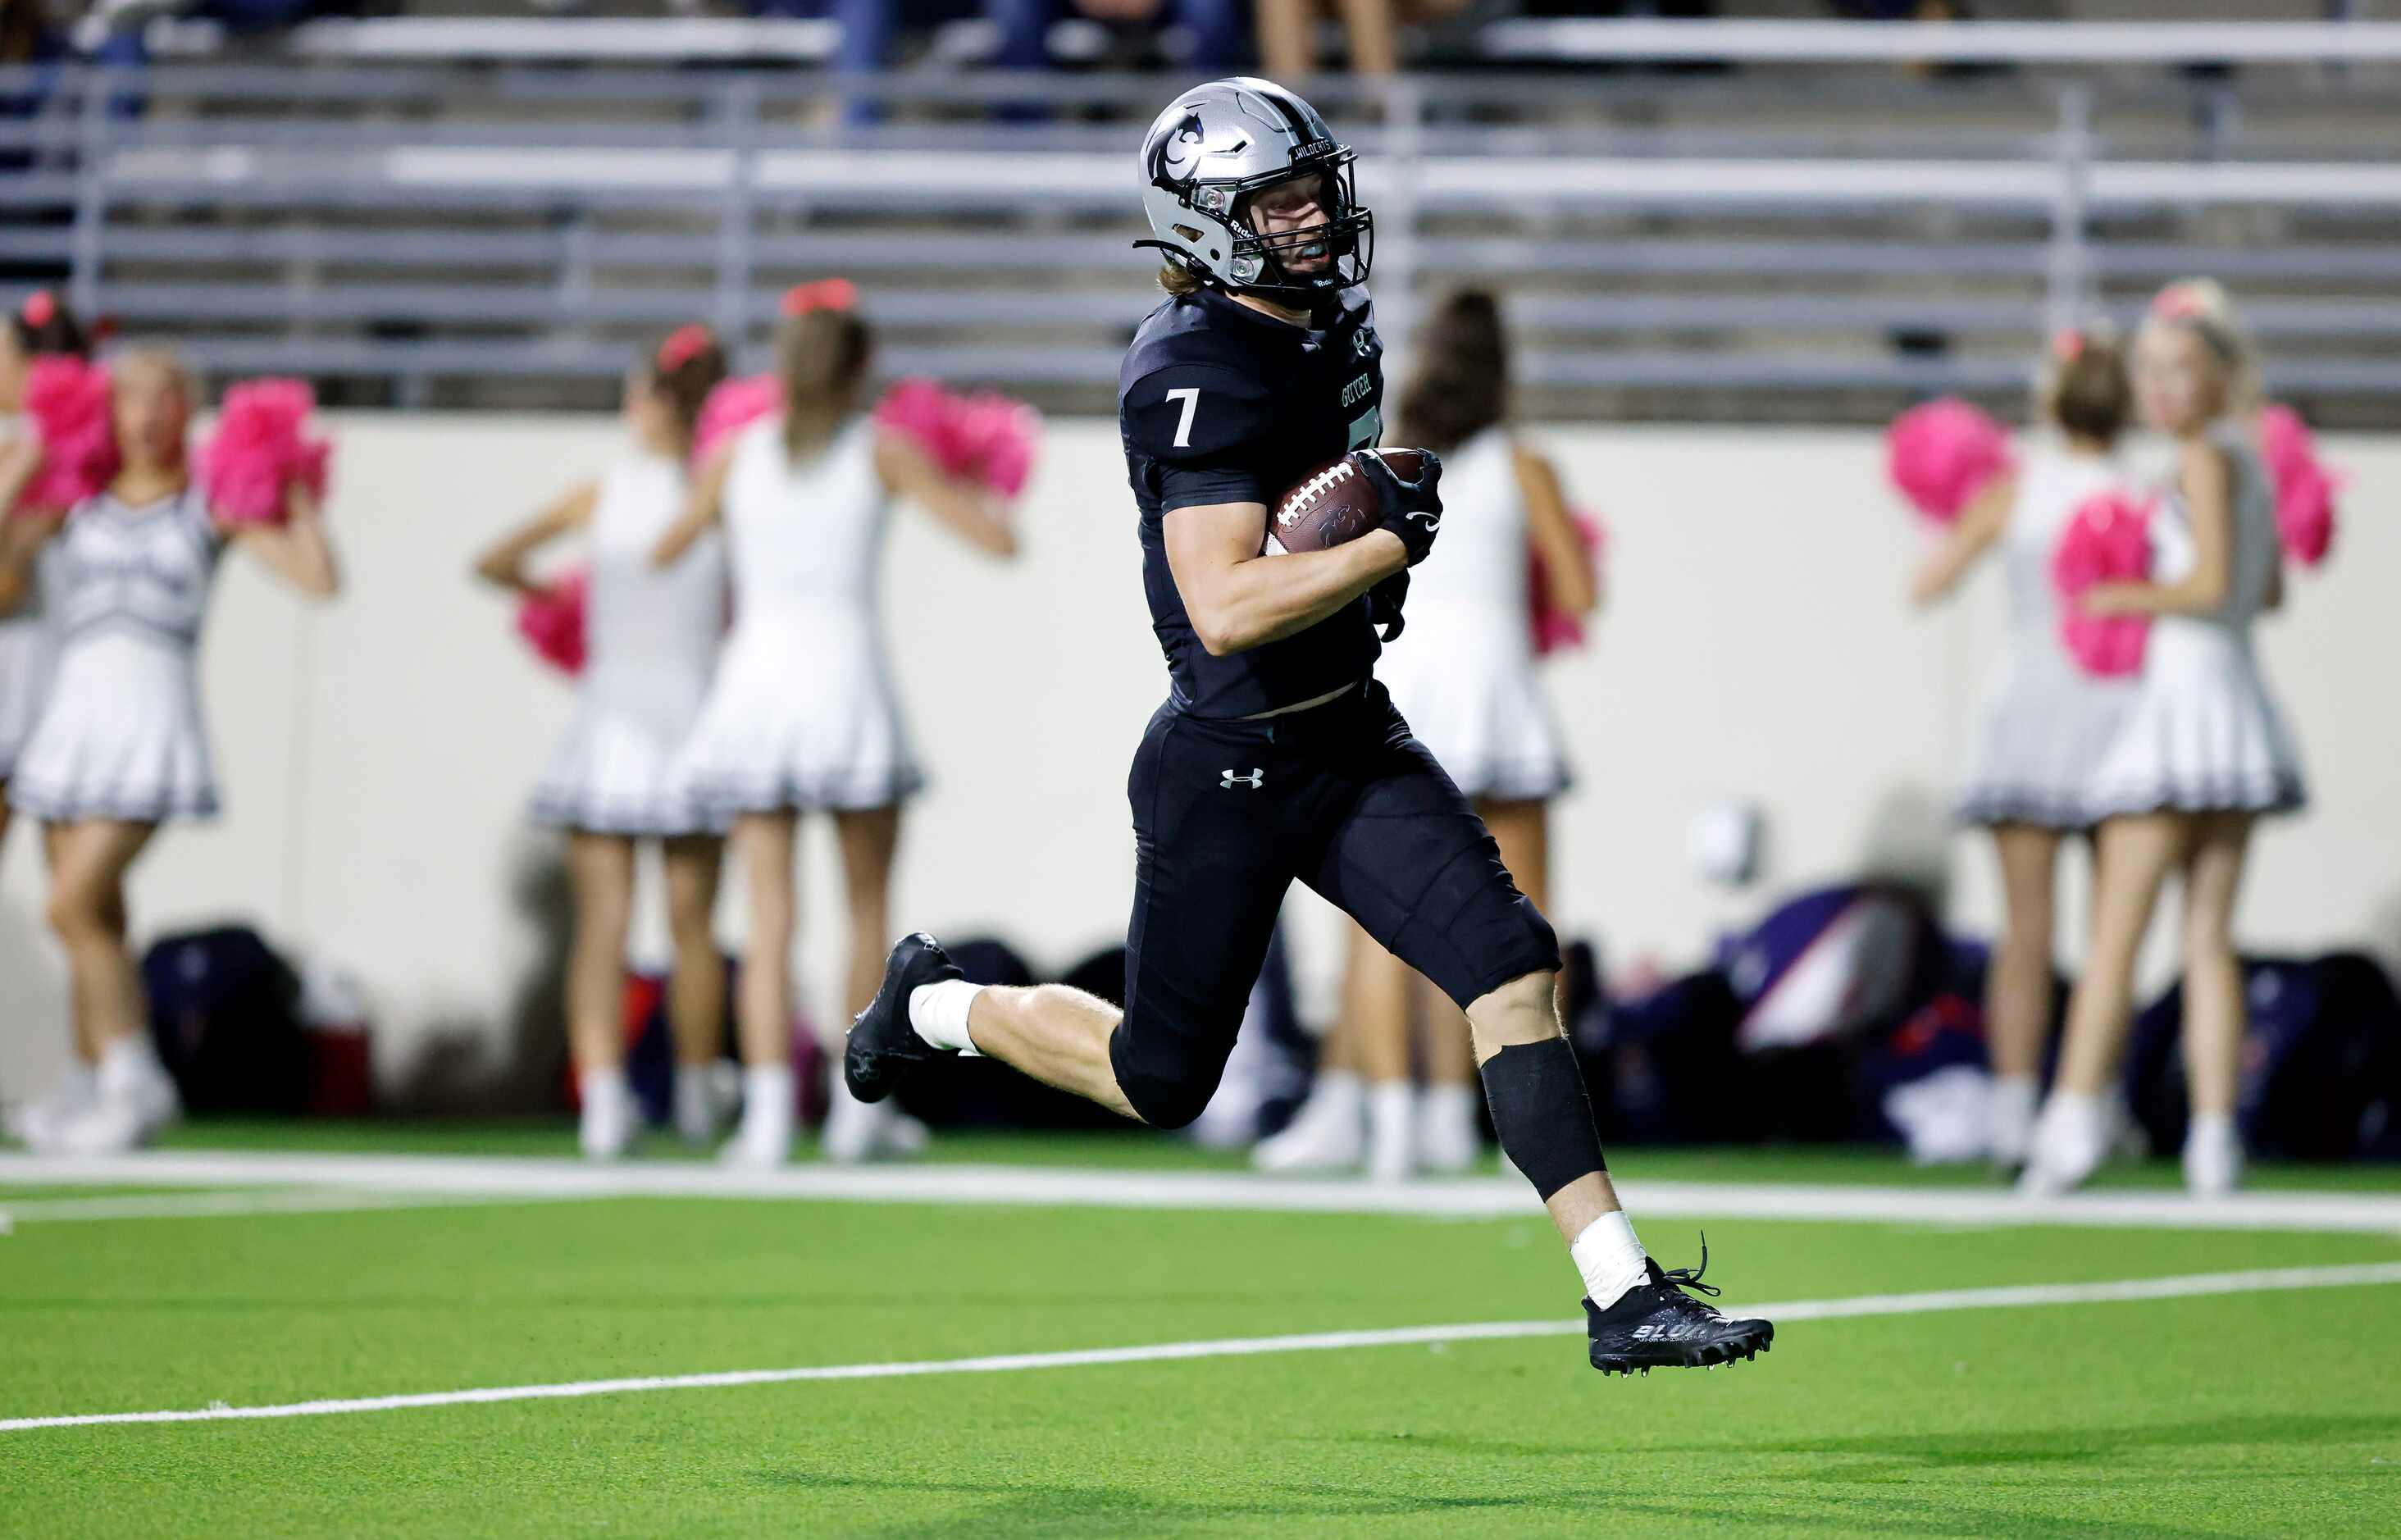
[[619, 1014], [634, 846], [646, 838], [660, 841], [675, 937], [667, 995], [675, 1129], [689, 1144], [715, 1136], [708, 1069], [725, 1021], [725, 963], [711, 913], [723, 824], [691, 793], [677, 754], [708, 694], [725, 632], [725, 550], [706, 536], [672, 567], [653, 569], [651, 548], [684, 509], [691, 432], [723, 377], [725, 353], [706, 327], [667, 336], [648, 368], [627, 380], [631, 442], [617, 461], [475, 562], [485, 581], [531, 596], [540, 591], [526, 577], [535, 550], [576, 531], [591, 548], [583, 685], [574, 723], [533, 793], [533, 822], [567, 834], [576, 911], [567, 1035], [583, 1103], [579, 1139], [593, 1160], [622, 1156], [641, 1122], [624, 1079]]

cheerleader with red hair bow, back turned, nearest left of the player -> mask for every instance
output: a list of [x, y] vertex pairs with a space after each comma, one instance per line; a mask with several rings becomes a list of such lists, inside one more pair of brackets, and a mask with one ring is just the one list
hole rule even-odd
[[[776, 332], [780, 408], [701, 468], [653, 560], [677, 562], [725, 526], [735, 629], [684, 764], [732, 817], [749, 899], [735, 1016], [742, 1035], [737, 1165], [780, 1165], [792, 1144], [792, 858], [800, 814], [833, 814], [850, 901], [848, 1011], [874, 999], [891, 942], [886, 896], [900, 802], [922, 783], [884, 661], [876, 567], [896, 497], [989, 555], [1013, 555], [999, 505], [860, 411], [872, 356], [850, 283], [785, 296]], [[855, 1103], [833, 1067], [826, 1153], [855, 1160], [922, 1129]]]

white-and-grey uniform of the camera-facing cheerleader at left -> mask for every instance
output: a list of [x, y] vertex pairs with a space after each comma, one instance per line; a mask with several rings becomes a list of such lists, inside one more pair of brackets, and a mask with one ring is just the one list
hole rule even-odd
[[101, 493], [50, 545], [58, 670], [10, 802], [43, 822], [214, 817], [199, 629], [223, 541], [206, 495], [125, 507]]

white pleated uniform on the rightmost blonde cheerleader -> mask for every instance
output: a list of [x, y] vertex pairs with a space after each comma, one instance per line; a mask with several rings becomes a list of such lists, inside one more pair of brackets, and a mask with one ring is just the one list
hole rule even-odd
[[[2226, 601], [2211, 615], [2158, 615], [2125, 726], [2094, 776], [2094, 812], [2291, 812], [2303, 805], [2300, 750], [2267, 692], [2250, 625], [2276, 565], [2276, 493], [2240, 428], [2211, 435], [2233, 466]], [[2151, 577], [2192, 572], [2190, 514], [2173, 490], [2151, 521]]]

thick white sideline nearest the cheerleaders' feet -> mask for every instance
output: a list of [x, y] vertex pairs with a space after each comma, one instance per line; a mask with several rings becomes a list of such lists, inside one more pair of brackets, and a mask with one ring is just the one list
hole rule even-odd
[[[809, 1199], [857, 1204], [1032, 1204], [1059, 1208], [1222, 1208], [1265, 1213], [1393, 1213], [1508, 1218], [1539, 1213], [1517, 1177], [1376, 1184], [1253, 1172], [1085, 1170], [1037, 1165], [792, 1165], [737, 1172], [691, 1163], [588, 1165], [547, 1158], [300, 1156], [240, 1151], [144, 1151], [89, 1160], [0, 1156], [7, 1182], [146, 1187], [343, 1187], [353, 1192], [456, 1192], [490, 1199]], [[2079, 1192], [2022, 1199], [1995, 1187], [1837, 1187], [1801, 1182], [1623, 1180], [1642, 1218], [1786, 1218], [1916, 1225], [2101, 1225], [2158, 1230], [2319, 1230], [2401, 1235], [2401, 1194]]]

